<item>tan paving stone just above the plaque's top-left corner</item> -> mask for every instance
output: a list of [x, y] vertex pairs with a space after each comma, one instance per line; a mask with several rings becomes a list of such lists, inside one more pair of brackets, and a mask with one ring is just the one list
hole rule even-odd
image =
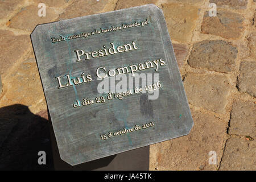
[[54, 9], [46, 7], [46, 16], [38, 16], [38, 6], [23, 7], [18, 14], [10, 20], [9, 27], [32, 32], [37, 24], [53, 22], [57, 18]]

